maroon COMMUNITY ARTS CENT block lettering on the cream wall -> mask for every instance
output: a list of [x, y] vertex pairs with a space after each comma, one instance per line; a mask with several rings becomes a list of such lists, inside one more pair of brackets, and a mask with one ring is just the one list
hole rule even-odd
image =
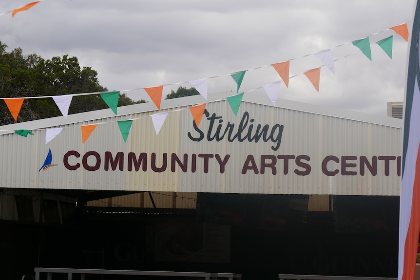
[[[229, 161], [230, 160], [230, 161]], [[313, 167], [326, 176], [389, 176], [396, 173], [401, 176], [401, 156], [325, 156], [320, 162], [312, 162], [309, 155], [260, 155], [248, 154], [245, 160], [237, 162], [229, 154], [187, 154], [146, 153], [110, 151], [99, 154], [87, 151], [81, 155], [76, 150], [69, 150], [63, 156], [64, 167], [68, 170], [83, 168], [87, 171], [99, 169], [105, 171], [129, 172], [204, 172], [223, 174], [228, 164], [240, 167], [241, 174], [270, 174], [307, 176]], [[197, 169], [199, 168], [199, 169]]]

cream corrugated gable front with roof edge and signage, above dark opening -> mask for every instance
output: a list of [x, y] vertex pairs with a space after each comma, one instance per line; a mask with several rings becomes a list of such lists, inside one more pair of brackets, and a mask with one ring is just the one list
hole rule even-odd
[[[161, 192], [399, 195], [401, 120], [244, 96], [235, 115], [201, 96], [1, 128], [1, 187]], [[156, 135], [152, 115], [167, 112]], [[125, 142], [119, 122], [132, 120]], [[97, 124], [82, 143], [81, 126]], [[62, 131], [45, 144], [49, 128]], [[27, 129], [35, 135], [14, 133]], [[52, 151], [52, 167], [40, 169]]]

